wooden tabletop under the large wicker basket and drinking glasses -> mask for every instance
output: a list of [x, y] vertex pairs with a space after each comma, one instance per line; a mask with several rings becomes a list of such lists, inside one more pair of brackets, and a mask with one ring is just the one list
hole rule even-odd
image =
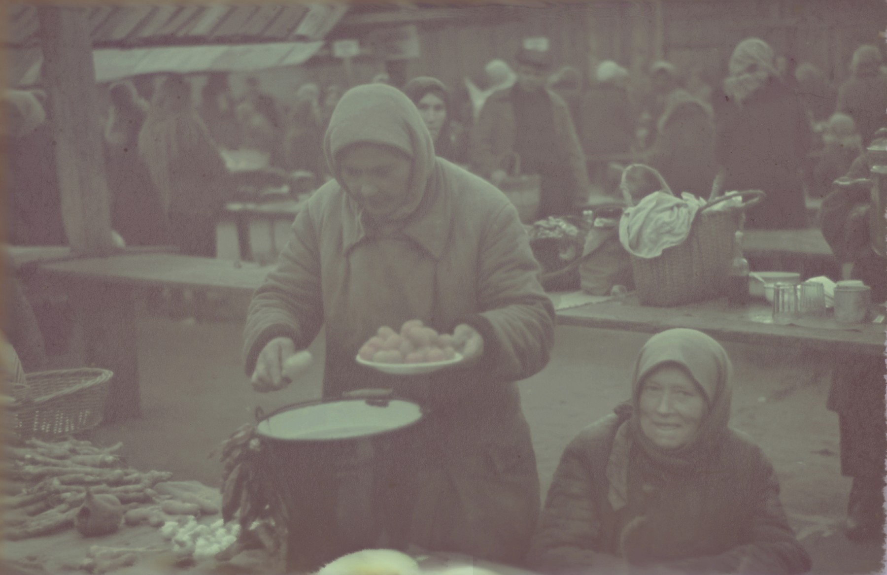
[[597, 327], [655, 334], [675, 327], [698, 329], [721, 342], [753, 343], [774, 348], [801, 347], [823, 353], [883, 357], [884, 326], [845, 326], [833, 319], [799, 319], [793, 325], [773, 323], [771, 308], [752, 303], [729, 308], [726, 299], [674, 308], [642, 306], [634, 296], [622, 302], [592, 303], [557, 312], [563, 326]]

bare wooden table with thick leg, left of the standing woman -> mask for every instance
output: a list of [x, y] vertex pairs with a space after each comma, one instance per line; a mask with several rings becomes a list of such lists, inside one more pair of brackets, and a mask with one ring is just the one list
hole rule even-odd
[[271, 267], [177, 254], [138, 254], [40, 264], [34, 279], [63, 287], [83, 329], [86, 365], [110, 369], [114, 379], [106, 421], [141, 413], [135, 288], [197, 288], [252, 294]]

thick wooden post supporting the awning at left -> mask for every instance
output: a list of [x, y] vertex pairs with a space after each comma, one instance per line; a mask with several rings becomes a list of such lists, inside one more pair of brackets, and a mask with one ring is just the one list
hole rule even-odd
[[105, 256], [114, 244], [85, 9], [39, 6], [37, 15], [68, 243]]

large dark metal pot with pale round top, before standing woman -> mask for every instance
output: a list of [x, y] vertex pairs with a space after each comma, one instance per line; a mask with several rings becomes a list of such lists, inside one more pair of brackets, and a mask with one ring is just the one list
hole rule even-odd
[[378, 453], [424, 418], [395, 397], [325, 399], [256, 409], [265, 467], [289, 516], [287, 570], [317, 571], [373, 547], [384, 525], [374, 509]]

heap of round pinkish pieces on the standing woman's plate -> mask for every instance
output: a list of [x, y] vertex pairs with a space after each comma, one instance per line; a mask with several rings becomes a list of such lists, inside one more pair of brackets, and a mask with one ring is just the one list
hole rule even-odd
[[380, 327], [359, 353], [365, 361], [382, 364], [434, 363], [450, 360], [455, 355], [452, 335], [438, 334], [419, 319], [404, 323], [399, 334], [390, 327]]

